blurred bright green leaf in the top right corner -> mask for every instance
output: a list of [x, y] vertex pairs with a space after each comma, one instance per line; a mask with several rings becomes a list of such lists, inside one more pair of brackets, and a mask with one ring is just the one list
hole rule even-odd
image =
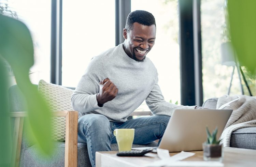
[[256, 1], [227, 3], [229, 34], [241, 65], [255, 76], [256, 69]]

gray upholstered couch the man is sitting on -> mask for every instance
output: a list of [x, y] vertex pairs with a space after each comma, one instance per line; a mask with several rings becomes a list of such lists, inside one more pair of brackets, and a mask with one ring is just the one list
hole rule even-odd
[[[35, 85], [37, 86], [37, 85]], [[21, 95], [20, 90], [16, 85], [9, 89], [10, 99], [10, 111], [20, 112], [26, 108], [24, 106], [24, 97]], [[11, 121], [13, 126], [13, 120]], [[132, 145], [132, 147], [155, 147], [156, 142], [151, 142], [147, 145]], [[35, 145], [28, 141], [26, 128], [23, 130], [22, 146], [20, 151], [20, 163], [21, 167], [61, 167], [65, 165], [65, 142], [55, 141], [54, 142], [55, 156], [48, 158], [42, 158], [37, 152]], [[118, 150], [117, 144], [111, 144], [113, 151]], [[89, 155], [87, 151], [87, 145], [85, 143], [77, 143], [77, 166], [78, 167], [90, 167]]]

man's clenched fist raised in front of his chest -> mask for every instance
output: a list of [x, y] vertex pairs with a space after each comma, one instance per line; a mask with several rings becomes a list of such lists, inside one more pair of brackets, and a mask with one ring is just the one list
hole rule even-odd
[[104, 103], [113, 100], [118, 93], [118, 89], [109, 78], [100, 81], [100, 91], [97, 94], [98, 106], [103, 106]]

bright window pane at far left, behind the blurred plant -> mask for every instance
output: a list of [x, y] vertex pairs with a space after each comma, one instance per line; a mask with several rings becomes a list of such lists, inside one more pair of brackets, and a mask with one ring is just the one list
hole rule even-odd
[[38, 84], [40, 79], [49, 82], [51, 1], [8, 0], [1, 3], [7, 3], [30, 30], [34, 46], [34, 65], [29, 71], [31, 82]]

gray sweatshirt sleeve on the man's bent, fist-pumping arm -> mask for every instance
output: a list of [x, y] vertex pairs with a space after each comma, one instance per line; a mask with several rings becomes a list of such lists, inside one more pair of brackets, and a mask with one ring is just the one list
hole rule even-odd
[[71, 96], [72, 108], [81, 113], [91, 112], [101, 107], [98, 106], [96, 95], [99, 92], [100, 79], [97, 61], [91, 60], [85, 74], [80, 79], [74, 93]]

